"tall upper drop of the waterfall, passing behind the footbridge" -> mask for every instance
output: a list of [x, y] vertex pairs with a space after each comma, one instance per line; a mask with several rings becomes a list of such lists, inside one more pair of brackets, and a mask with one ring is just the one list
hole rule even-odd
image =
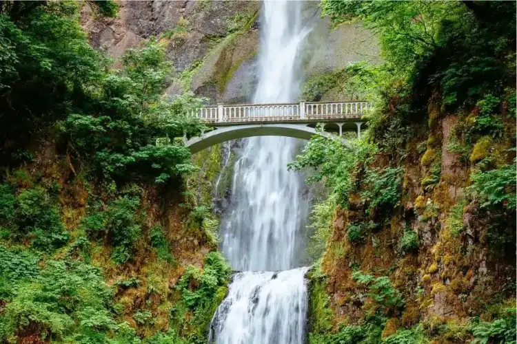
[[[307, 30], [297, 1], [265, 1], [254, 103], [297, 98], [298, 51]], [[285, 270], [296, 261], [296, 232], [307, 214], [300, 175], [287, 171], [299, 140], [256, 137], [239, 151], [232, 185], [234, 207], [223, 218], [225, 256], [236, 270]]]

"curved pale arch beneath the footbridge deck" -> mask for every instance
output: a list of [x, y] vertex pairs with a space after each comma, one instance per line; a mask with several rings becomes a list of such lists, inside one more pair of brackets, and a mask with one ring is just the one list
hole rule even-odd
[[[191, 138], [185, 142], [185, 146], [188, 147], [192, 153], [197, 153], [214, 144], [238, 138], [250, 138], [252, 136], [286, 136], [289, 138], [310, 140], [310, 138], [316, 134], [317, 132], [314, 128], [301, 124], [278, 123], [262, 125], [233, 125], [229, 127], [218, 127], [213, 131], [203, 134], [201, 137]], [[327, 132], [320, 134], [327, 137], [335, 137]]]

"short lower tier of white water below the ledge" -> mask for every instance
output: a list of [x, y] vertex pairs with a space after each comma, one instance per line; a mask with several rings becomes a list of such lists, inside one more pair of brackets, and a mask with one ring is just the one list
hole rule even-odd
[[[307, 268], [239, 272], [211, 325], [216, 343], [301, 344], [305, 336]], [[212, 343], [214, 338], [209, 338]]]

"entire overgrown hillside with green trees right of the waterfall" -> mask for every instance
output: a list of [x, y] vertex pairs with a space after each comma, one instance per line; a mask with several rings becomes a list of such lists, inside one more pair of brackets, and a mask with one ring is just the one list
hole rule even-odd
[[[362, 140], [315, 137], [291, 164], [314, 169], [309, 181], [331, 195], [312, 217], [313, 245], [325, 249], [310, 343], [515, 343], [506, 306], [515, 283], [496, 282], [515, 279], [515, 3], [321, 8], [336, 26], [361, 21], [374, 32], [383, 61], [352, 63], [304, 89], [316, 99], [339, 87], [374, 103]], [[482, 250], [508, 270], [487, 268], [469, 284]], [[450, 318], [434, 310], [440, 297]]]

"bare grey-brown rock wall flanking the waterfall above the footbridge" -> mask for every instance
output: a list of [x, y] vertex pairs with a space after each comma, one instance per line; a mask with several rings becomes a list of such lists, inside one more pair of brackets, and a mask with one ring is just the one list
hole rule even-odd
[[[119, 16], [105, 19], [85, 2], [81, 23], [92, 45], [115, 60], [146, 39], [163, 41], [178, 76], [183, 76], [168, 89], [170, 94], [190, 88], [210, 103], [243, 103], [256, 84], [259, 12], [259, 1], [119, 1]], [[360, 24], [332, 30], [321, 19], [317, 1], [305, 1], [303, 18], [312, 28], [299, 71], [306, 76], [352, 61], [378, 60], [376, 39]]]

